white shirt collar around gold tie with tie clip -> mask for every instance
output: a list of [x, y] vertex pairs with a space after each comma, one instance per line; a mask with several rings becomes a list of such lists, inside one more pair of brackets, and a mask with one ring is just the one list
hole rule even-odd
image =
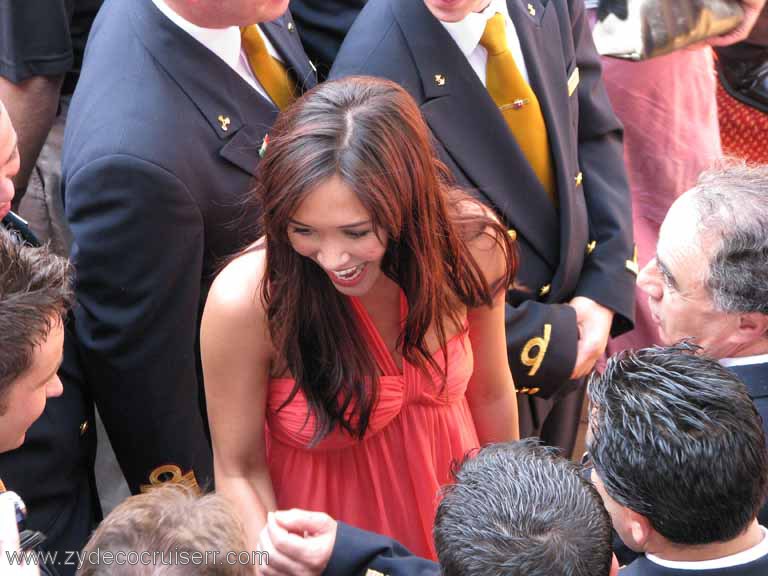
[[[417, 0], [413, 0], [416, 2]], [[525, 81], [530, 84], [528, 79], [528, 69], [525, 66], [523, 50], [520, 48], [520, 39], [517, 37], [517, 31], [512, 19], [509, 17], [506, 0], [491, 0], [491, 3], [482, 12], [470, 12], [464, 20], [459, 22], [440, 22], [451, 35], [454, 42], [458, 45], [461, 52], [467, 58], [472, 70], [475, 71], [480, 82], [485, 86], [485, 64], [488, 61], [488, 52], [480, 46], [480, 38], [485, 32], [485, 24], [497, 12], [504, 16], [506, 22], [505, 30], [507, 32], [507, 46], [515, 59], [515, 64]]]

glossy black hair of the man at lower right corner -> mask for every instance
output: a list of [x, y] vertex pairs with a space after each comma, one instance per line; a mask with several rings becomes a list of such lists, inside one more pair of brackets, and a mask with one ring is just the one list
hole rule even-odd
[[768, 450], [739, 378], [698, 347], [624, 351], [594, 375], [588, 451], [606, 492], [684, 545], [735, 538], [760, 509]]

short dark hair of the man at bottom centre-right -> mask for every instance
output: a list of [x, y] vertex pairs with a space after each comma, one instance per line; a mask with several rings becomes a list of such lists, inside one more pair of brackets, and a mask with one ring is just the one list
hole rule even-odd
[[443, 489], [434, 538], [445, 576], [606, 576], [611, 520], [572, 462], [535, 440], [491, 444]]

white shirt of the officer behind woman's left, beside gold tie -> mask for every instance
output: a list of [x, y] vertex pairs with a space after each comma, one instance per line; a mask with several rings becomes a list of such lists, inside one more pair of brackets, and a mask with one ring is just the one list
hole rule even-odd
[[[240, 28], [237, 26], [230, 26], [229, 28], [201, 28], [176, 13], [164, 0], [152, 0], [152, 2], [171, 22], [224, 60], [243, 80], [248, 82], [264, 98], [272, 102], [266, 90], [256, 79], [256, 76], [254, 76], [250, 64], [248, 64], [248, 56], [242, 48]], [[269, 55], [282, 62], [282, 58], [275, 50], [275, 47], [272, 46], [269, 38], [264, 35], [261, 28], [259, 28], [259, 33], [264, 39]]]

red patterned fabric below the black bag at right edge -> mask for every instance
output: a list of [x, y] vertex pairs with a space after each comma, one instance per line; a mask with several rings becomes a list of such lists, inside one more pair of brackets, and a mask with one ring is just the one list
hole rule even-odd
[[720, 136], [726, 156], [768, 164], [768, 114], [742, 104], [717, 83]]

